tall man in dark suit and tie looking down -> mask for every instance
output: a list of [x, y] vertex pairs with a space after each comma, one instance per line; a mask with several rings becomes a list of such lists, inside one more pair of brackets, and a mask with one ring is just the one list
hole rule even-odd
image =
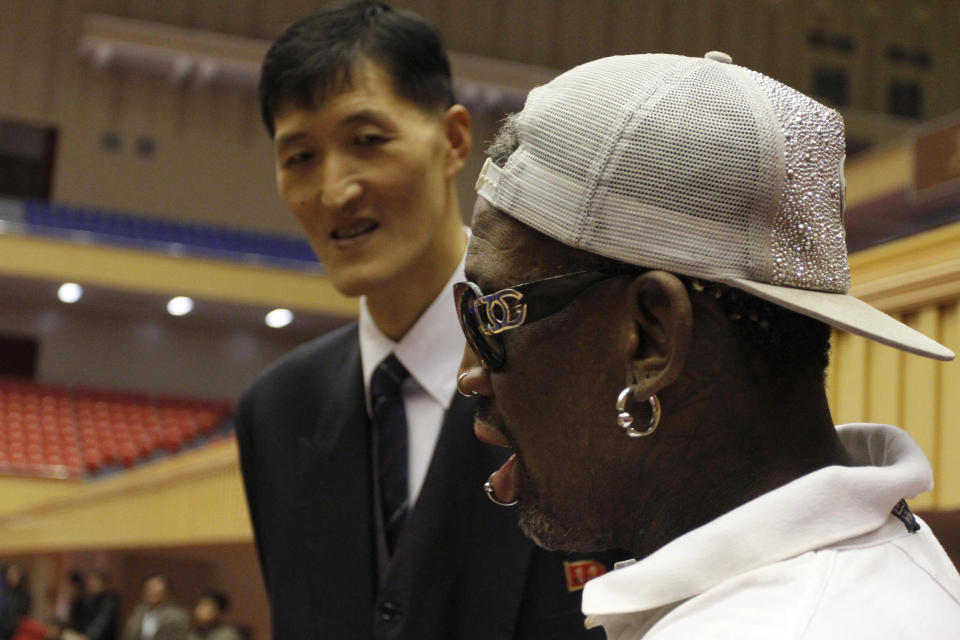
[[579, 588], [608, 559], [535, 550], [487, 500], [503, 454], [456, 394], [471, 137], [439, 35], [381, 3], [325, 9], [273, 44], [260, 102], [281, 198], [334, 286], [362, 296], [358, 323], [237, 408], [274, 638], [595, 637]]

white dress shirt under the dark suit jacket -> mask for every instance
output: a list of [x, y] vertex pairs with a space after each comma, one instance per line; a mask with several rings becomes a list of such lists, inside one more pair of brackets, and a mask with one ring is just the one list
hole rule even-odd
[[399, 342], [380, 331], [367, 308], [366, 298], [360, 298], [360, 361], [367, 415], [372, 415], [370, 379], [384, 358], [395, 353], [410, 372], [410, 377], [403, 383], [403, 405], [407, 413], [411, 509], [420, 495], [444, 414], [457, 389], [457, 368], [463, 355], [464, 337], [453, 308], [453, 285], [465, 279], [463, 261], [461, 258], [440, 295]]

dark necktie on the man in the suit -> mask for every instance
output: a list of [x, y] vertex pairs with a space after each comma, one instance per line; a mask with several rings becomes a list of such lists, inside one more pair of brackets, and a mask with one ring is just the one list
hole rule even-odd
[[380, 507], [390, 554], [407, 517], [407, 413], [400, 386], [410, 373], [390, 354], [370, 379]]

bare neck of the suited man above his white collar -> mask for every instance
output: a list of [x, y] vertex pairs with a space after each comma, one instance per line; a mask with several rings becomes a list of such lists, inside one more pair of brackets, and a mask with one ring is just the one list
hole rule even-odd
[[406, 335], [447, 284], [463, 259], [466, 245], [466, 233], [458, 215], [455, 226], [438, 234], [428, 259], [418, 261], [393, 282], [367, 293], [367, 309], [384, 335], [392, 340]]

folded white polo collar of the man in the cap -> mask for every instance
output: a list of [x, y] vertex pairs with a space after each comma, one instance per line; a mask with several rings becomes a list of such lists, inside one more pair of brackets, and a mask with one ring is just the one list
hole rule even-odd
[[930, 463], [904, 431], [875, 424], [837, 430], [862, 466], [809, 473], [594, 578], [583, 591], [583, 612], [639, 613], [693, 597], [751, 569], [877, 530], [902, 498], [933, 486]]

